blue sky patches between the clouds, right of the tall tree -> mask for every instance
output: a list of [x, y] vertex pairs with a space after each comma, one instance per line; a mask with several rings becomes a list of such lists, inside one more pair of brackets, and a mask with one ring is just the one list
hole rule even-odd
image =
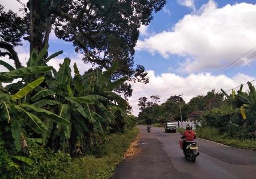
[[[200, 9], [200, 7], [206, 4], [209, 1], [206, 0], [195, 0], [194, 7], [195, 9]], [[235, 5], [237, 3], [252, 3], [255, 4], [255, 1], [228, 1], [221, 0], [215, 1], [218, 5], [218, 8], [226, 6], [227, 4]], [[178, 1], [167, 1], [166, 6], [162, 11], [154, 15], [153, 21], [151, 21], [149, 27], [147, 28], [151, 33], [161, 33], [162, 31], [170, 31], [171, 28], [177, 23], [180, 19], [182, 19], [187, 14], [193, 14], [193, 9], [191, 7], [186, 7], [178, 3]], [[145, 39], [146, 37], [141, 35], [139, 37], [140, 40]], [[175, 42], [170, 42], [175, 43]], [[239, 42], [238, 42], [239, 43]], [[255, 43], [256, 46], [256, 43]], [[253, 47], [251, 47], [253, 48]], [[250, 48], [248, 48], [248, 51]], [[245, 53], [246, 51], [244, 51]], [[241, 54], [243, 55], [243, 54]], [[238, 58], [239, 56], [237, 56]], [[136, 51], [135, 53], [135, 63], [143, 64], [146, 70], [154, 70], [155, 74], [160, 75], [165, 72], [170, 72], [170, 68], [177, 68], [178, 62], [184, 61], [185, 58], [178, 55], [171, 55], [169, 58], [163, 58], [163, 56], [158, 53], [155, 55], [150, 54], [147, 51]], [[235, 60], [235, 59], [234, 59]], [[156, 65], [157, 64], [157, 65]], [[243, 74], [247, 75], [256, 75], [254, 70], [255, 62], [251, 63], [250, 66], [240, 66], [239, 68], [234, 68], [234, 70], [227, 73], [227, 76], [233, 76], [237, 74], [237, 72], [243, 72]], [[203, 72], [218, 72], [219, 69], [213, 70], [202, 70]], [[199, 71], [199, 72], [202, 72]], [[183, 74], [181, 74], [183, 75]]]

